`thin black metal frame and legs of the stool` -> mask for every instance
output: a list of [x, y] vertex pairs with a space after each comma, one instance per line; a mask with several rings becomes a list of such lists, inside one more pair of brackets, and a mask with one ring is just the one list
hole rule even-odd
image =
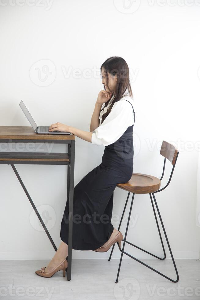
[[[179, 152], [177, 152], [176, 160], [177, 160], [178, 154], [179, 154]], [[154, 192], [154, 193], [158, 193], [158, 192], [162, 191], [163, 189], [165, 189], [165, 188], [169, 185], [169, 182], [171, 181], [172, 174], [173, 174], [173, 171], [174, 171], [174, 167], [175, 167], [175, 165], [176, 165], [176, 160], [175, 160], [175, 163], [174, 163], [174, 165], [173, 165], [173, 168], [172, 168], [172, 171], [171, 171], [171, 174], [170, 174], [170, 178], [169, 178], [168, 183], [164, 186], [164, 188], [159, 189], [159, 190], [157, 190], [157, 191]], [[166, 158], [164, 159], [163, 172], [162, 172], [162, 176], [161, 176], [160, 180], [163, 178], [163, 175], [164, 175], [164, 171], [165, 171], [165, 162], [166, 162]], [[161, 231], [160, 231], [160, 228], [159, 228], [159, 224], [158, 224], [158, 220], [157, 220], [157, 216], [156, 216], [156, 211], [155, 211], [155, 208], [154, 208], [154, 203], [153, 203], [153, 200], [152, 200], [152, 197], [151, 197], [151, 193], [149, 193], [149, 195], [150, 195], [150, 199], [151, 199], [152, 208], [153, 208], [153, 211], [154, 211], [154, 216], [155, 216], [155, 220], [156, 220], [156, 224], [157, 224], [158, 233], [159, 233], [160, 240], [161, 240], [161, 244], [162, 244], [162, 249], [163, 249], [163, 252], [164, 252], [164, 257], [158, 257], [158, 256], [154, 255], [153, 253], [150, 253], [150, 252], [148, 252], [148, 251], [146, 251], [146, 250], [144, 250], [144, 249], [142, 249], [142, 248], [140, 248], [140, 247], [138, 247], [138, 246], [135, 246], [134, 244], [132, 244], [132, 243], [130, 243], [130, 242], [128, 242], [128, 241], [126, 241], [126, 236], [127, 236], [127, 232], [128, 232], [128, 225], [129, 225], [130, 216], [131, 216], [131, 210], [132, 210], [132, 206], [133, 206], [133, 199], [134, 199], [134, 196], [135, 196], [135, 193], [133, 193], [132, 200], [131, 200], [130, 211], [129, 211], [129, 216], [128, 216], [128, 222], [127, 222], [127, 226], [126, 226], [126, 232], [125, 232], [125, 236], [124, 236], [124, 239], [123, 239], [124, 242], [123, 242], [123, 247], [122, 247], [122, 249], [120, 248], [119, 243], [117, 243], [117, 245], [118, 245], [118, 247], [119, 247], [119, 249], [120, 249], [120, 252], [121, 252], [121, 257], [120, 257], [120, 263], [119, 263], [119, 268], [118, 268], [118, 272], [117, 272], [117, 279], [116, 279], [116, 282], [115, 282], [115, 283], [118, 282], [118, 277], [119, 277], [119, 273], [120, 273], [120, 267], [121, 267], [121, 262], [122, 262], [123, 254], [128, 255], [129, 257], [133, 258], [134, 260], [138, 261], [139, 263], [143, 264], [143, 265], [146, 266], [147, 268], [153, 270], [154, 272], [160, 274], [161, 276], [165, 277], [166, 279], [169, 279], [169, 280], [172, 281], [172, 282], [177, 282], [177, 281], [179, 281], [178, 271], [177, 271], [177, 268], [176, 268], [176, 264], [175, 264], [175, 261], [174, 261], [174, 258], [173, 258], [172, 250], [171, 250], [170, 245], [169, 245], [169, 240], [168, 240], [168, 238], [167, 238], [167, 234], [166, 234], [166, 231], [165, 231], [165, 227], [164, 227], [164, 224], [163, 224], [163, 221], [162, 221], [162, 218], [161, 218], [160, 211], [159, 211], [159, 209], [158, 209], [158, 205], [157, 205], [157, 202], [156, 202], [156, 198], [155, 198], [154, 193], [152, 193], [152, 195], [153, 195], [153, 198], [154, 198], [154, 202], [155, 202], [155, 205], [156, 205], [156, 209], [157, 209], [157, 212], [158, 212], [159, 219], [160, 219], [160, 221], [161, 221], [162, 229], [163, 229], [163, 232], [164, 232], [164, 234], [165, 234], [165, 238], [166, 238], [166, 241], [167, 241], [167, 245], [168, 245], [168, 247], [169, 247], [169, 252], [170, 252], [171, 257], [172, 257], [172, 261], [173, 261], [173, 265], [174, 265], [174, 268], [175, 268], [175, 271], [176, 271], [177, 279], [176, 279], [176, 280], [173, 280], [173, 279], [169, 278], [168, 276], [165, 276], [165, 275], [162, 274], [161, 272], [159, 272], [159, 271], [157, 271], [156, 269], [150, 267], [148, 264], [143, 263], [143, 262], [140, 261], [139, 259], [133, 257], [132, 255], [130, 255], [130, 254], [128, 254], [127, 252], [124, 251], [125, 243], [128, 243], [129, 245], [134, 246], [134, 247], [136, 247], [136, 248], [138, 248], [138, 249], [140, 249], [140, 250], [142, 250], [142, 251], [144, 251], [144, 252], [150, 254], [151, 256], [154, 256], [154, 257], [156, 257], [156, 258], [158, 258], [158, 259], [160, 259], [160, 260], [164, 260], [164, 259], [166, 258], [165, 248], [164, 248], [164, 245], [163, 245], [163, 241], [162, 241], [162, 237], [161, 237]], [[129, 195], [130, 195], [130, 192], [128, 192], [128, 197], [127, 197], [127, 200], [126, 200], [126, 203], [125, 203], [125, 206], [124, 206], [124, 210], [123, 210], [123, 213], [122, 213], [122, 217], [121, 217], [121, 219], [120, 219], [120, 224], [119, 224], [119, 227], [118, 227], [118, 231], [120, 230], [120, 226], [121, 226], [121, 223], [122, 223], [122, 219], [123, 219], [123, 216], [124, 216], [124, 212], [125, 212], [125, 209], [126, 209], [126, 206], [127, 206], [127, 203], [128, 203]], [[108, 259], [109, 261], [110, 261], [111, 256], [112, 256], [114, 246], [115, 246], [115, 244], [113, 244], [112, 251], [111, 251], [110, 257], [109, 257], [109, 259]]]

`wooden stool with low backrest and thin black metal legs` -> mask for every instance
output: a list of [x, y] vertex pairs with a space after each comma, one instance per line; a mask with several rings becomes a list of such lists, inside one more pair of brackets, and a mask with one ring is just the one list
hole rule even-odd
[[[173, 174], [173, 171], [174, 171], [174, 167], [175, 167], [175, 164], [176, 164], [176, 160], [177, 160], [179, 151], [172, 144], [169, 144], [168, 142], [163, 141], [162, 145], [161, 145], [160, 154], [165, 157], [163, 171], [162, 171], [162, 176], [161, 176], [160, 179], [157, 178], [157, 177], [151, 176], [151, 175], [147, 175], [147, 174], [133, 173], [131, 179], [127, 183], [119, 183], [119, 184], [117, 184], [117, 187], [119, 187], [120, 189], [124, 189], [125, 191], [128, 191], [128, 197], [127, 197], [127, 200], [126, 200], [126, 203], [125, 203], [125, 206], [124, 206], [124, 210], [123, 210], [123, 213], [122, 213], [122, 217], [121, 217], [121, 220], [120, 220], [118, 231], [120, 230], [121, 222], [122, 222], [122, 219], [123, 219], [123, 216], [124, 216], [124, 212], [125, 212], [125, 209], [126, 209], [126, 205], [127, 205], [130, 193], [133, 193], [133, 196], [132, 196], [131, 207], [130, 207], [129, 216], [128, 216], [128, 223], [127, 223], [127, 226], [126, 226], [126, 232], [125, 232], [125, 236], [124, 236], [124, 239], [123, 239], [124, 242], [123, 242], [122, 249], [120, 248], [120, 246], [117, 243], [117, 245], [118, 245], [118, 247], [119, 247], [119, 249], [121, 251], [121, 257], [120, 257], [120, 263], [119, 263], [119, 268], [118, 268], [118, 273], [117, 273], [117, 279], [116, 279], [115, 283], [118, 282], [118, 277], [119, 277], [119, 272], [120, 272], [120, 267], [121, 267], [121, 261], [122, 261], [123, 254], [126, 254], [129, 257], [135, 259], [136, 261], [138, 261], [139, 263], [143, 264], [147, 268], [150, 268], [154, 272], [160, 274], [161, 276], [169, 279], [172, 282], [177, 282], [179, 280], [179, 275], [178, 275], [178, 271], [177, 271], [177, 268], [176, 268], [176, 264], [175, 264], [173, 255], [172, 255], [172, 250], [170, 248], [169, 241], [168, 241], [168, 238], [167, 238], [167, 234], [166, 234], [166, 231], [165, 231], [165, 227], [163, 225], [163, 222], [162, 222], [162, 219], [161, 219], [161, 214], [159, 212], [159, 209], [158, 209], [158, 206], [157, 206], [157, 202], [156, 202], [156, 199], [155, 199], [155, 196], [154, 196], [154, 193], [158, 193], [158, 192], [162, 191], [163, 189], [165, 189], [169, 185], [169, 182], [171, 181], [171, 178], [172, 178], [172, 174]], [[159, 189], [160, 186], [161, 186], [161, 179], [163, 178], [164, 171], [165, 171], [165, 162], [166, 162], [166, 159], [168, 159], [172, 163], [173, 168], [172, 168], [172, 171], [171, 171], [168, 183], [162, 189]], [[127, 232], [128, 232], [128, 225], [129, 225], [129, 221], [130, 221], [130, 216], [131, 216], [131, 210], [132, 210], [134, 195], [135, 194], [147, 194], [147, 193], [149, 193], [149, 195], [150, 195], [151, 204], [152, 204], [153, 211], [154, 211], [154, 216], [155, 216], [155, 219], [156, 219], [157, 229], [158, 229], [158, 233], [160, 235], [162, 249], [163, 249], [163, 252], [164, 252], [164, 257], [158, 257], [158, 256], [156, 256], [156, 255], [154, 255], [154, 254], [152, 254], [152, 253], [150, 253], [150, 252], [148, 252], [148, 251], [146, 251], [146, 250], [144, 250], [144, 249], [142, 249], [142, 248], [140, 248], [138, 246], [135, 246], [135, 245], [133, 245], [132, 243], [130, 243], [128, 241], [126, 241], [126, 236], [127, 236]], [[146, 252], [146, 253], [148, 253], [148, 254], [150, 254], [150, 255], [158, 258], [158, 259], [160, 259], [160, 260], [164, 260], [166, 258], [165, 248], [164, 248], [164, 245], [163, 245], [163, 241], [162, 241], [162, 237], [161, 237], [161, 232], [160, 232], [160, 228], [159, 228], [159, 225], [158, 225], [157, 216], [156, 216], [156, 212], [155, 212], [155, 208], [154, 208], [154, 203], [153, 203], [151, 194], [153, 195], [154, 202], [155, 202], [155, 205], [156, 205], [156, 209], [157, 209], [157, 212], [158, 212], [158, 215], [159, 215], [159, 218], [160, 218], [160, 221], [161, 221], [161, 225], [162, 225], [162, 228], [163, 228], [163, 231], [164, 231], [164, 234], [165, 234], [165, 238], [166, 238], [166, 241], [167, 241], [167, 244], [168, 244], [168, 247], [169, 247], [169, 252], [170, 252], [171, 257], [172, 257], [172, 261], [173, 261], [174, 268], [175, 268], [175, 271], [176, 271], [176, 276], [177, 276], [176, 280], [173, 280], [173, 279], [169, 278], [168, 276], [165, 276], [161, 272], [158, 272], [154, 268], [151, 268], [149, 265], [143, 263], [139, 259], [133, 257], [132, 255], [130, 255], [127, 252], [124, 251], [125, 243], [128, 243], [129, 245], [132, 245], [132, 246], [134, 246], [134, 247], [136, 247], [136, 248], [138, 248], [138, 249], [140, 249], [140, 250], [142, 250], [142, 251], [144, 251], [144, 252]], [[110, 253], [110, 257], [108, 259], [109, 261], [110, 261], [111, 256], [112, 256], [114, 246], [115, 246], [115, 244], [113, 244], [113, 248], [112, 248], [112, 251]]]

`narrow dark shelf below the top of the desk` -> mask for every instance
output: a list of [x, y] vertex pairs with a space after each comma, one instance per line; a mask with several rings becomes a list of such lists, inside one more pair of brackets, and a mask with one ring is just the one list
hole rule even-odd
[[0, 164], [58, 164], [68, 165], [68, 153], [0, 152]]

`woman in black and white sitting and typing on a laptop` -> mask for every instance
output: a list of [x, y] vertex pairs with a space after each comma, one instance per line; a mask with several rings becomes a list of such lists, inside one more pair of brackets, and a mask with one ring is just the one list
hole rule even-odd
[[[123, 239], [111, 224], [113, 191], [117, 183], [128, 182], [132, 175], [135, 112], [125, 60], [116, 56], [108, 58], [100, 74], [104, 90], [98, 94], [90, 132], [61, 123], [52, 124], [49, 131], [68, 131], [92, 144], [105, 146], [101, 164], [74, 187], [72, 248], [106, 252], [115, 242], [120, 245]], [[51, 277], [63, 270], [65, 276], [68, 218], [69, 197], [61, 222], [62, 242], [47, 267], [35, 271], [37, 275]]]

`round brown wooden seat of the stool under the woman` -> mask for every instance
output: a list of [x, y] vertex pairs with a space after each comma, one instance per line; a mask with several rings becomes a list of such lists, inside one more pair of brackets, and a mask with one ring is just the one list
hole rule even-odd
[[156, 192], [161, 186], [161, 181], [155, 176], [142, 173], [133, 173], [126, 183], [118, 183], [117, 187], [135, 194], [147, 194]]

